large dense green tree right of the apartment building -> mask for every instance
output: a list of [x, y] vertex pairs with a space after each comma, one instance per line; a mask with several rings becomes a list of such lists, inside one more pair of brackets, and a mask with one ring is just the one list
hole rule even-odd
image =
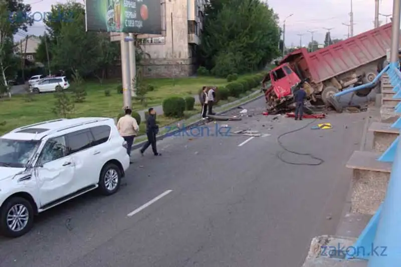
[[211, 0], [205, 10], [199, 63], [227, 77], [266, 66], [280, 53], [278, 17], [259, 0]]

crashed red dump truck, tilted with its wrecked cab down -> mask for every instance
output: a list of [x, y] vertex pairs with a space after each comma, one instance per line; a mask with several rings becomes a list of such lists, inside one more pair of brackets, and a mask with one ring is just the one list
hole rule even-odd
[[[293, 93], [304, 81], [306, 107], [326, 105], [341, 112], [341, 108], [336, 107], [338, 103], [332, 102], [332, 96], [346, 88], [372, 82], [387, 64], [386, 50], [390, 45], [391, 23], [315, 52], [308, 53], [306, 48], [293, 51], [264, 79], [264, 84], [271, 82], [269, 88], [263, 89], [267, 111], [277, 113], [293, 109]], [[366, 97], [375, 87], [358, 90], [355, 95]]]

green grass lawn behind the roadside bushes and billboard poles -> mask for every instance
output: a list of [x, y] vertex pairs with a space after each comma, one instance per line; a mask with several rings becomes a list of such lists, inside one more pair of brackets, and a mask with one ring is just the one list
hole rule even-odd
[[[244, 75], [239, 79], [252, 75]], [[149, 79], [147, 82], [155, 87], [154, 91], [147, 94], [147, 107], [161, 105], [163, 99], [172, 95], [195, 95], [202, 86], [223, 86], [227, 84], [226, 79], [213, 77]], [[117, 117], [123, 106], [122, 95], [117, 93], [119, 84], [121, 83], [117, 80], [105, 81], [103, 85], [96, 81], [86, 82], [88, 94], [86, 101], [75, 104], [73, 117]], [[110, 96], [105, 95], [106, 90], [110, 91]], [[54, 93], [35, 95], [32, 102], [27, 102], [26, 96], [23, 95], [14, 95], [11, 99], [0, 99], [0, 135], [17, 127], [56, 119], [57, 116], [52, 111], [55, 102]], [[147, 109], [135, 100], [133, 100], [132, 107], [135, 111]], [[200, 110], [193, 112], [200, 112]], [[189, 113], [192, 114], [193, 112]], [[160, 126], [174, 121], [174, 119], [162, 116], [158, 119]]]

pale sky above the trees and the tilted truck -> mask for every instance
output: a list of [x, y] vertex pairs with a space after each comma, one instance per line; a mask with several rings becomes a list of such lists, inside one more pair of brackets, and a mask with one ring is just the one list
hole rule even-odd
[[[32, 13], [37, 11], [43, 13], [50, 11], [52, 5], [66, 3], [67, 0], [25, 0], [24, 2], [32, 6]], [[76, 2], [83, 3], [83, 0], [76, 0]], [[308, 31], [315, 31], [313, 38], [319, 43], [324, 42], [327, 32], [323, 28], [333, 28], [330, 30], [332, 39], [345, 39], [348, 34], [348, 27], [342, 24], [349, 24], [351, 0], [267, 0], [267, 3], [278, 14], [281, 27], [283, 27], [284, 19], [290, 14], [294, 14], [286, 20], [285, 43], [287, 47], [299, 46], [300, 38], [302, 38], [302, 45], [306, 46], [312, 37]], [[352, 7], [355, 24], [354, 35], [372, 29], [374, 26], [374, 0], [352, 0]], [[379, 12], [383, 15], [391, 15], [392, 0], [380, 0]], [[389, 17], [387, 20], [390, 22]], [[379, 16], [379, 21], [381, 24], [385, 24], [386, 18]], [[42, 35], [44, 31], [44, 25], [36, 22], [29, 29], [29, 34]], [[17, 36], [16, 40], [21, 38], [21, 36]]]

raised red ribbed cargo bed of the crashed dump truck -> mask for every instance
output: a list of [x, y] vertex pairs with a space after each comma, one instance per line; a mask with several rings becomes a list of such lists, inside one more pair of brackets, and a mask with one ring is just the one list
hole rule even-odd
[[385, 57], [390, 45], [391, 23], [312, 53], [305, 48], [295, 50], [280, 64], [296, 62], [305, 76], [319, 83]]

